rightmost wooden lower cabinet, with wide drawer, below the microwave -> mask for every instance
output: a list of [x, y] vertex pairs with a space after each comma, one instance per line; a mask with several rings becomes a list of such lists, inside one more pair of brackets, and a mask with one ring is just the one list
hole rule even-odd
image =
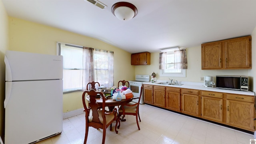
[[227, 124], [254, 130], [254, 96], [227, 94]]

